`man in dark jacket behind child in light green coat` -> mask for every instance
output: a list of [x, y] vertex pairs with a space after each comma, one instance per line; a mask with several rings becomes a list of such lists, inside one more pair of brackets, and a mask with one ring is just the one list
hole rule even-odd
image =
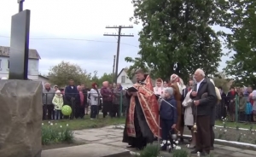
[[72, 108], [70, 119], [73, 119], [75, 115], [75, 107], [80, 104], [79, 90], [74, 85], [73, 79], [69, 80], [69, 85], [65, 89], [65, 98], [68, 105]]

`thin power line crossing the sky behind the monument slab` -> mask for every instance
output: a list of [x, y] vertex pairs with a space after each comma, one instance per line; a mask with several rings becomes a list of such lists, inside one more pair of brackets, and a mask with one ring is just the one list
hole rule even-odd
[[[0, 38], [10, 38], [8, 36], [1, 36]], [[90, 39], [85, 39], [85, 38], [29, 38], [32, 40], [77, 40], [77, 41], [87, 41], [87, 42], [97, 42], [97, 43], [116, 43], [116, 42], [108, 42], [108, 41], [101, 41], [101, 40], [90, 40]], [[125, 44], [125, 43], [120, 43], [120, 44]], [[132, 45], [132, 44], [125, 44], [128, 46], [132, 46], [132, 47], [136, 47], [138, 48], [138, 46], [136, 45]]]

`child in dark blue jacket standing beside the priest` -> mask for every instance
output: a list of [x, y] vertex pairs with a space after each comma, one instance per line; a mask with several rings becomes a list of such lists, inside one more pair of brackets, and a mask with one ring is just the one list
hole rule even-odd
[[[174, 90], [172, 87], [165, 89], [165, 101], [160, 102], [160, 124], [162, 129], [162, 140], [164, 145], [162, 150], [166, 150], [168, 137], [170, 139], [171, 134], [175, 134], [177, 123], [177, 102], [174, 99]], [[168, 102], [168, 103], [167, 103]], [[171, 146], [173, 140], [170, 140]]]

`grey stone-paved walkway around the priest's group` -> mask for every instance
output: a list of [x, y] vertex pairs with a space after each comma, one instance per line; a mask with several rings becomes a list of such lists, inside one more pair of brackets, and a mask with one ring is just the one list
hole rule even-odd
[[[126, 148], [127, 144], [122, 142], [124, 126], [108, 126], [101, 129], [88, 129], [82, 131], [75, 131], [74, 137], [76, 140], [81, 140], [86, 143], [100, 143], [108, 146]], [[253, 157], [256, 151], [242, 148], [233, 148], [224, 145], [214, 145], [215, 150], [212, 151], [214, 157]], [[135, 151], [135, 149], [131, 149]], [[170, 154], [164, 153], [164, 156]]]

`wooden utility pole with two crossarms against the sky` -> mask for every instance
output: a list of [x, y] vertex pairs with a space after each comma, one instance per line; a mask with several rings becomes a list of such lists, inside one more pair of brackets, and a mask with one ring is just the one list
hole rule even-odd
[[108, 34], [104, 33], [103, 36], [112, 36], [112, 37], [118, 37], [118, 45], [117, 45], [117, 52], [116, 52], [116, 64], [115, 64], [115, 83], [117, 83], [117, 77], [119, 73], [119, 48], [120, 48], [120, 39], [121, 37], [134, 37], [133, 34], [125, 35], [121, 33], [122, 28], [133, 28], [133, 26], [106, 26], [106, 28], [118, 28], [119, 33], [118, 34]]

